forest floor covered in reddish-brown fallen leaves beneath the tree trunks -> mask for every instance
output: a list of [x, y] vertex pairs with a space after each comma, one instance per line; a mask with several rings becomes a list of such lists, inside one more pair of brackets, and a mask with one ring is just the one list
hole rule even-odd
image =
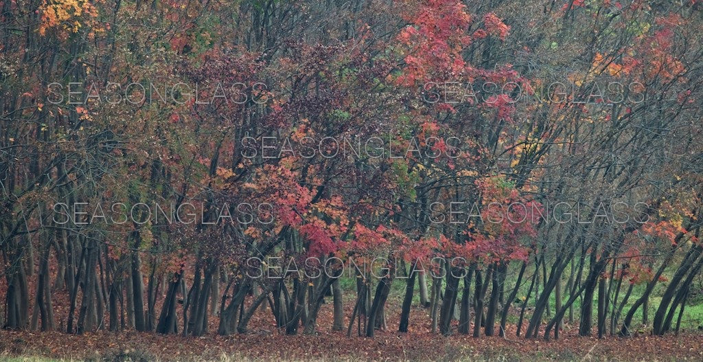
[[211, 332], [203, 337], [129, 330], [81, 336], [1, 330], [0, 361], [703, 361], [701, 330], [599, 340], [579, 337], [577, 325], [565, 325], [560, 340], [547, 342], [515, 337], [515, 325], [510, 325], [506, 338], [473, 338], [456, 331], [442, 337], [430, 331], [427, 313], [413, 307], [410, 332], [399, 333], [399, 311], [387, 311], [388, 328], [374, 338], [358, 337], [356, 325], [352, 337], [346, 330], [331, 330], [331, 303], [323, 304], [316, 335], [279, 332], [269, 309], [257, 311], [250, 332], [228, 337], [212, 332], [217, 326], [214, 316]]

